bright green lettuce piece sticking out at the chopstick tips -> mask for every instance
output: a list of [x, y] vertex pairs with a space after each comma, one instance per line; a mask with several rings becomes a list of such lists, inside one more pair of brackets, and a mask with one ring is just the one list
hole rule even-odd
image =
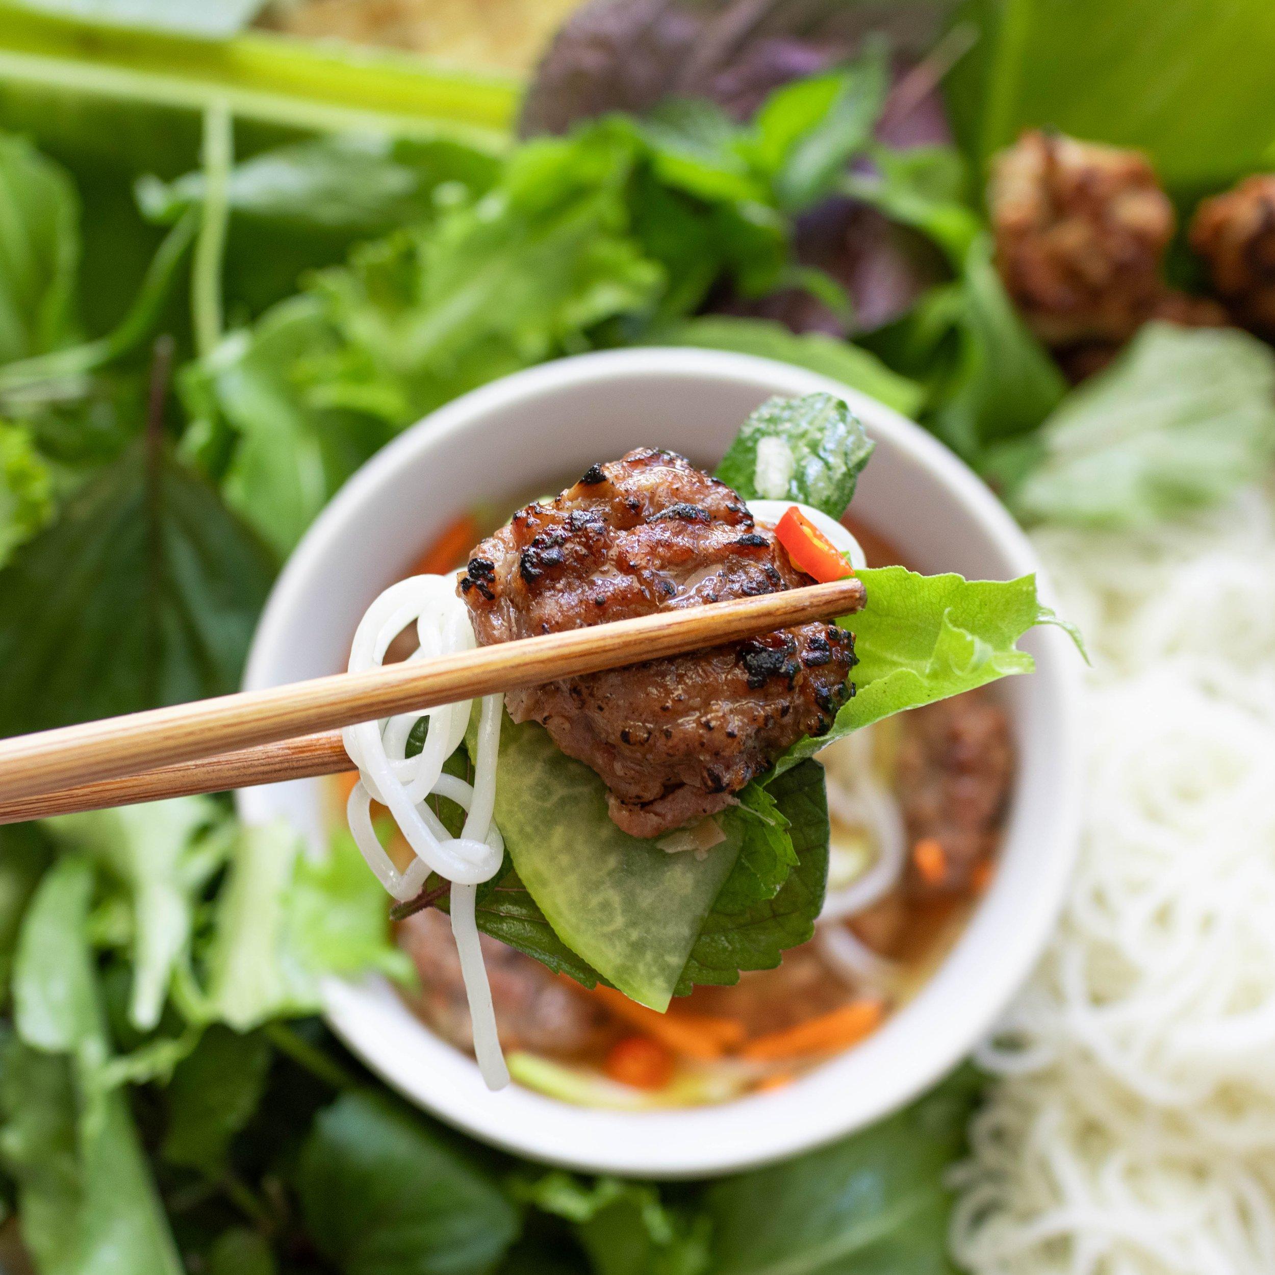
[[854, 634], [856, 694], [826, 734], [799, 740], [776, 762], [783, 773], [850, 731], [919, 708], [998, 677], [1030, 673], [1017, 640], [1033, 626], [1057, 622], [1040, 604], [1035, 576], [965, 580], [917, 575], [901, 566], [858, 572], [867, 604], [839, 621]]

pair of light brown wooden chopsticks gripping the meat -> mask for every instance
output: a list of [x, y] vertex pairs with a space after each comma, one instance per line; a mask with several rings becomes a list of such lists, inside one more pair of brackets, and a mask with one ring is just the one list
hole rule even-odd
[[339, 728], [833, 620], [850, 576], [0, 740], [0, 824], [349, 770]]

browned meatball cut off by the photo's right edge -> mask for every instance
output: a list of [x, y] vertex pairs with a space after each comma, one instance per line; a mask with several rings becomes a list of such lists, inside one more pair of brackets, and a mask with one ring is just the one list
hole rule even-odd
[[1275, 337], [1275, 175], [1248, 177], [1206, 199], [1191, 223], [1191, 246], [1235, 319]]

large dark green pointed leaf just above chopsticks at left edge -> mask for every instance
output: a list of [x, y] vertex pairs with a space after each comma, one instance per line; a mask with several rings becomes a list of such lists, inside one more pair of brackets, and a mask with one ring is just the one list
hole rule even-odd
[[0, 572], [0, 734], [235, 690], [272, 574], [213, 491], [135, 446]]

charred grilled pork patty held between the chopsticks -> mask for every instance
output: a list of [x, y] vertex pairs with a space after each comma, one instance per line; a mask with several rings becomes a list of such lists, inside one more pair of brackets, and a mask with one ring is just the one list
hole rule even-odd
[[[473, 551], [459, 588], [490, 645], [810, 583], [736, 492], [643, 448], [520, 509]], [[848, 632], [812, 623], [511, 691], [505, 705], [602, 775], [620, 827], [657, 836], [722, 810], [826, 731], [854, 663]]]

